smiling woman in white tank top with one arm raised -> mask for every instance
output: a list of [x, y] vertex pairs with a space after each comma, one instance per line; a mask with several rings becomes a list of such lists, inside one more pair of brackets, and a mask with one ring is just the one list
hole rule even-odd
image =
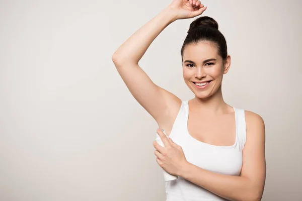
[[169, 24], [205, 10], [197, 0], [174, 0], [122, 44], [112, 60], [137, 102], [169, 138], [158, 130], [165, 147], [154, 142], [158, 164], [179, 176], [166, 182], [167, 200], [260, 200], [266, 175], [264, 122], [223, 100], [221, 82], [231, 57], [216, 21], [193, 21], [181, 49], [183, 77], [193, 99], [182, 101], [157, 86], [138, 66]]

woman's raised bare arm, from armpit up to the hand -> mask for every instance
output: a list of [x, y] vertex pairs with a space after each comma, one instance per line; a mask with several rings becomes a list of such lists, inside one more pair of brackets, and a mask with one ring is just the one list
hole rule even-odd
[[[188, 1], [174, 0], [147, 24], [138, 29], [112, 55], [118, 73], [137, 102], [157, 121], [160, 128], [170, 133], [181, 100], [169, 91], [156, 85], [139, 67], [141, 59], [154, 39], [172, 22], [184, 15], [195, 17], [202, 13], [187, 11]], [[178, 11], [182, 9], [182, 15]], [[193, 9], [193, 7], [192, 7]], [[193, 11], [196, 9], [193, 9]], [[190, 15], [189, 15], [190, 14]]]

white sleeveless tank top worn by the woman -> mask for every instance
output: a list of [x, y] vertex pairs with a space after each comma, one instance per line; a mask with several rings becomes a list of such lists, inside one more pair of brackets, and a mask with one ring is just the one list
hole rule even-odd
[[[236, 140], [231, 146], [216, 146], [193, 138], [188, 132], [189, 104], [182, 101], [181, 108], [169, 135], [180, 145], [188, 162], [216, 173], [240, 175], [242, 150], [246, 141], [246, 122], [243, 109], [234, 108]], [[167, 201], [214, 201], [224, 199], [183, 177], [166, 181]]]

